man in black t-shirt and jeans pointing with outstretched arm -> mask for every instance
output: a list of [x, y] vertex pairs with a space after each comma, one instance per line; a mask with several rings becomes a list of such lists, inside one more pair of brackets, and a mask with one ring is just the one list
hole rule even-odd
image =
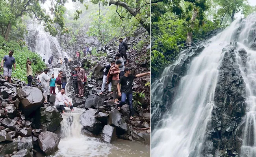
[[[124, 76], [122, 76], [117, 84], [117, 90], [118, 90], [118, 95], [121, 97], [121, 102], [119, 104], [119, 107], [117, 110], [120, 110], [122, 105], [125, 104], [126, 97], [128, 99], [128, 105], [129, 105], [129, 110], [130, 110], [130, 120], [134, 119], [134, 108], [132, 105], [132, 82], [135, 77], [143, 77], [145, 75], [150, 75], [150, 72], [148, 73], [141, 73], [137, 75], [130, 75], [132, 68], [125, 68], [124, 69]], [[122, 93], [120, 92], [120, 84]]]

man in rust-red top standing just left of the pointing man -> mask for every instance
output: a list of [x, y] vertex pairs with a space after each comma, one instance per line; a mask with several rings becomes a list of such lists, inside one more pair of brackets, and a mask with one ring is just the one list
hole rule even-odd
[[110, 83], [109, 81], [111, 80], [111, 84], [113, 87], [113, 99], [115, 104], [120, 103], [118, 101], [118, 95], [117, 95], [117, 83], [119, 81], [119, 73], [120, 73], [119, 66], [121, 66], [121, 61], [117, 60], [116, 65], [109, 69], [108, 76], [107, 76], [108, 83]]

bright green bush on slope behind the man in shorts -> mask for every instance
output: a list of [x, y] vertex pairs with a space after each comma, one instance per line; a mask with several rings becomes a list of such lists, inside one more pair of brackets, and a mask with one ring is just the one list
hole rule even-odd
[[[46, 68], [41, 56], [28, 50], [28, 47], [25, 45], [24, 41], [20, 40], [19, 42], [6, 42], [4, 38], [0, 36], [0, 58], [3, 58], [4, 55], [8, 55], [9, 50], [14, 51], [13, 57], [16, 61], [16, 71], [14, 71], [13, 68], [12, 73], [13, 78], [27, 81], [26, 61], [28, 57], [30, 60], [32, 60], [31, 66], [33, 75]], [[3, 73], [3, 69], [0, 70], [0, 73]]]

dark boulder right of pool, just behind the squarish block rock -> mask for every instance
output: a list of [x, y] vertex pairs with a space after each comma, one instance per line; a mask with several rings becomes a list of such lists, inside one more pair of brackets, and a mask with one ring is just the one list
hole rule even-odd
[[108, 125], [115, 126], [118, 135], [122, 135], [128, 130], [127, 124], [124, 119], [121, 118], [121, 113], [118, 110], [109, 113]]

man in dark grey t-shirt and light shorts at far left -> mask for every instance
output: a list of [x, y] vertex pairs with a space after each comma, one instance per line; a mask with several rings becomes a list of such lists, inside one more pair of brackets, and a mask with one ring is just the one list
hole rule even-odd
[[[4, 63], [4, 66], [3, 66]], [[9, 55], [5, 55], [2, 62], [1, 62], [1, 67], [4, 68], [4, 77], [5, 79], [11, 83], [11, 73], [16, 70], [16, 63], [15, 63], [15, 58], [13, 57], [13, 50], [9, 51]]]

